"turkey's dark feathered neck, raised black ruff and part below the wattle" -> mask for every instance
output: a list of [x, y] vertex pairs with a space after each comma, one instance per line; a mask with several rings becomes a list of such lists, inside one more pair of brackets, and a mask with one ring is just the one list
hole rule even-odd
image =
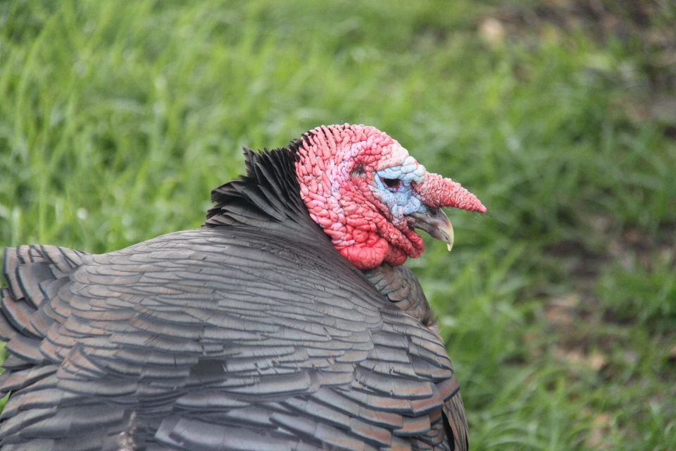
[[[211, 201], [216, 205], [209, 209], [202, 227], [258, 229], [270, 238], [306, 242], [326, 247], [324, 252], [337, 252], [301, 199], [295, 152], [284, 147], [253, 152], [244, 147], [244, 156], [246, 175], [211, 191]], [[432, 309], [408, 267], [384, 263], [361, 273], [388, 302], [437, 333]]]

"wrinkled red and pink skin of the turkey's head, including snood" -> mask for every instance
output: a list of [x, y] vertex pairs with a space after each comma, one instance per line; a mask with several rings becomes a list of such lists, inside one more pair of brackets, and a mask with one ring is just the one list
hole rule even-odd
[[406, 221], [392, 223], [387, 204], [372, 192], [375, 171], [413, 165], [424, 180], [413, 185], [429, 206], [458, 206], [485, 212], [479, 200], [451, 179], [427, 173], [391, 137], [365, 125], [330, 125], [309, 131], [299, 147], [296, 175], [301, 197], [313, 220], [334, 247], [360, 269], [383, 261], [398, 266], [407, 257], [420, 257], [423, 238]]

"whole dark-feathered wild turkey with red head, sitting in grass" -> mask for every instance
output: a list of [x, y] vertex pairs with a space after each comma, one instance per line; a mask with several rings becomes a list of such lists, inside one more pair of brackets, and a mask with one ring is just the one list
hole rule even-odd
[[245, 154], [200, 229], [5, 249], [2, 451], [467, 449], [401, 264], [423, 252], [413, 227], [450, 248], [439, 207], [484, 206], [363, 125]]

